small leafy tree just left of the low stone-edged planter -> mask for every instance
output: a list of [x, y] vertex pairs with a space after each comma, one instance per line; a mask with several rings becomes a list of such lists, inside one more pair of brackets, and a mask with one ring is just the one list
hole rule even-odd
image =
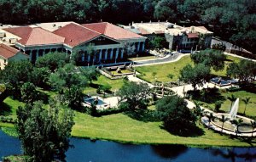
[[100, 73], [94, 66], [81, 68], [80, 71], [81, 75], [84, 75], [87, 80], [90, 81], [90, 85], [92, 84], [92, 81], [97, 81], [98, 77], [100, 76]]

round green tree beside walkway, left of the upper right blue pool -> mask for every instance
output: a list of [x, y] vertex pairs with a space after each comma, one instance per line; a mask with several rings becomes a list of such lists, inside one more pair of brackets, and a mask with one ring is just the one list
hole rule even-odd
[[190, 64], [186, 65], [180, 70], [180, 81], [190, 82], [194, 90], [196, 86], [203, 86], [203, 84], [210, 80], [210, 68], [205, 64], [195, 64], [192, 67]]

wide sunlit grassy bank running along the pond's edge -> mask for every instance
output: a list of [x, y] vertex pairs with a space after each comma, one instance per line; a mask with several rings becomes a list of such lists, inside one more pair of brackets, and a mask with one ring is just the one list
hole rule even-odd
[[[15, 116], [15, 109], [22, 104], [9, 98], [4, 103], [10, 106], [9, 115]], [[15, 103], [15, 104], [14, 104]], [[153, 110], [154, 108], [152, 108]], [[1, 112], [3, 112], [1, 110]], [[145, 121], [135, 119], [131, 115], [123, 113], [92, 117], [90, 115], [75, 112], [75, 125], [73, 126], [73, 137], [89, 137], [96, 139], [108, 139], [119, 142], [138, 143], [172, 143], [185, 145], [208, 145], [208, 146], [250, 146], [247, 142], [239, 139], [231, 139], [221, 136], [211, 130], [198, 125], [204, 134], [199, 137], [178, 137], [161, 128], [160, 121]], [[12, 124], [0, 123], [0, 126], [13, 127]], [[256, 141], [251, 142], [253, 146]]]

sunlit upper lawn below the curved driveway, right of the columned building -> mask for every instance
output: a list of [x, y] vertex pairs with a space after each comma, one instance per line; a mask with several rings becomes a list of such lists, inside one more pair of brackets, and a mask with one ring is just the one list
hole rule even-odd
[[[225, 62], [224, 70], [218, 72], [212, 70], [212, 74], [221, 76], [226, 75], [226, 68], [228, 64], [230, 64], [232, 61], [239, 62], [239, 60], [239, 58], [227, 56], [227, 61]], [[177, 81], [179, 77], [179, 71], [182, 70], [183, 67], [187, 64], [193, 64], [192, 60], [190, 59], [190, 56], [184, 56], [182, 59], [174, 63], [141, 66], [137, 67], [136, 70], [142, 74], [141, 78], [145, 81], [154, 82], [154, 76], [152, 75], [153, 72], [156, 73], [156, 81]], [[172, 79], [167, 77], [167, 75], [169, 74], [173, 75]]]

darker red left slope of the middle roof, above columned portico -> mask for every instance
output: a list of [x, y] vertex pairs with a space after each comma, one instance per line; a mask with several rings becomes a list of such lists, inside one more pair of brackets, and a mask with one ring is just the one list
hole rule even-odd
[[65, 37], [65, 43], [71, 47], [75, 47], [83, 42], [90, 41], [96, 36], [102, 35], [99, 32], [92, 31], [82, 25], [77, 25], [74, 23], [65, 25], [64, 27], [53, 31], [53, 33], [58, 36]]

